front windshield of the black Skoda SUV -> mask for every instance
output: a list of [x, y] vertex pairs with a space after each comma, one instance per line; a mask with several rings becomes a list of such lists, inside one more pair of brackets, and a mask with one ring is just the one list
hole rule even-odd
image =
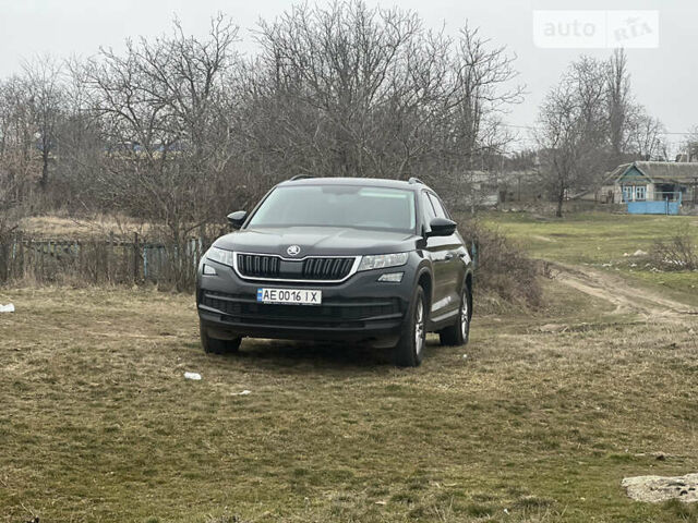
[[275, 188], [249, 227], [351, 227], [414, 231], [411, 191], [358, 185], [299, 185]]

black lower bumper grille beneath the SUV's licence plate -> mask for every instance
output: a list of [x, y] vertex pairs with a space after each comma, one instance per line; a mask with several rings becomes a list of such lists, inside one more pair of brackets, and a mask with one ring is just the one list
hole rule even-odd
[[402, 315], [399, 299], [342, 299], [303, 306], [257, 303], [249, 296], [202, 291], [201, 304], [219, 311], [228, 321], [281, 326], [360, 327], [368, 319]]

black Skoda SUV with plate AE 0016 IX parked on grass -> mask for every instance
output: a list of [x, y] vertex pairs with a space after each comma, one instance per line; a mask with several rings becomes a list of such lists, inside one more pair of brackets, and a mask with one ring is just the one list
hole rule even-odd
[[206, 352], [243, 337], [365, 342], [417, 366], [428, 331], [468, 341], [472, 264], [436, 194], [409, 182], [296, 177], [228, 216], [198, 266]]

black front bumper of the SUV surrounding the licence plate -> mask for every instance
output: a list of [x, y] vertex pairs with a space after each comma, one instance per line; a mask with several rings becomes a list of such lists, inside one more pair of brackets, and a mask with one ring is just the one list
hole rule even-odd
[[[216, 276], [200, 273], [196, 303], [202, 326], [224, 337], [276, 338], [395, 344], [412, 294], [408, 266], [357, 272], [341, 283], [248, 280], [228, 266], [209, 263]], [[385, 272], [405, 272], [400, 283], [378, 282]], [[257, 289], [318, 289], [322, 305], [257, 302]]]

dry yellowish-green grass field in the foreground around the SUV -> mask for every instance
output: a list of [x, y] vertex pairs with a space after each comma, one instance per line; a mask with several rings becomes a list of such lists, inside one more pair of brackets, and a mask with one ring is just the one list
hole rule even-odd
[[698, 315], [565, 262], [417, 369], [208, 356], [186, 294], [0, 289], [0, 522], [698, 522], [621, 488], [698, 470]]

